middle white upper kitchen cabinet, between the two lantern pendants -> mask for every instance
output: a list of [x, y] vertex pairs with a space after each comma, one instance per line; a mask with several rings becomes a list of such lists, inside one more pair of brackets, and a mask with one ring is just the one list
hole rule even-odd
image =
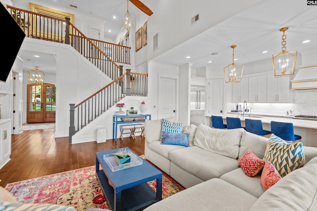
[[266, 75], [249, 77], [249, 102], [266, 102]]

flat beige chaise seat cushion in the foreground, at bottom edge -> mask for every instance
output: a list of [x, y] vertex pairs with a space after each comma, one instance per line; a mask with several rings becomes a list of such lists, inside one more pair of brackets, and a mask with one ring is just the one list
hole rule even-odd
[[248, 211], [257, 198], [221, 179], [211, 179], [159, 201], [144, 211]]

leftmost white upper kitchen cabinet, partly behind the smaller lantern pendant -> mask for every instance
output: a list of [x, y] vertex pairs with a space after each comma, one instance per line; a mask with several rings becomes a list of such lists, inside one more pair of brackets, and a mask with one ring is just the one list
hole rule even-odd
[[232, 84], [232, 102], [249, 101], [249, 79], [243, 78], [241, 82]]

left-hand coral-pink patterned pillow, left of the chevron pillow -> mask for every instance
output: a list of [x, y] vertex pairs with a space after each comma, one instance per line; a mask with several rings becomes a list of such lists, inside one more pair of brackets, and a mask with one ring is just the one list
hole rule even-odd
[[264, 167], [265, 161], [258, 158], [250, 149], [248, 149], [240, 158], [239, 166], [248, 176], [257, 175]]

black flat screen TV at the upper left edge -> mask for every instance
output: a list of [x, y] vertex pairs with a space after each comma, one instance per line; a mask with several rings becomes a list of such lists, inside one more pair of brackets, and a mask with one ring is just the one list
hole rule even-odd
[[12, 18], [2, 3], [0, 3], [1, 20], [1, 56], [0, 56], [0, 82], [6, 82], [12, 65], [20, 50], [25, 34]]

